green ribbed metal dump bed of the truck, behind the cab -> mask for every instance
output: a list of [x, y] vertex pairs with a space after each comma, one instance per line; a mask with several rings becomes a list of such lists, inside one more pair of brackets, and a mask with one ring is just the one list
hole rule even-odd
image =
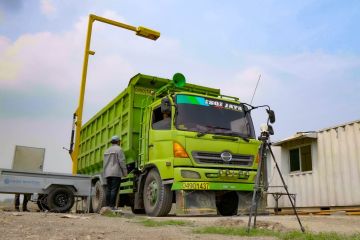
[[[102, 170], [103, 153], [113, 135], [121, 136], [121, 147], [127, 163], [137, 161], [139, 138], [142, 129], [145, 129], [141, 127], [141, 122], [148, 124], [149, 121], [142, 118], [144, 108], [156, 100], [155, 92], [166, 86], [176, 92], [220, 95], [219, 89], [194, 84], [186, 84], [185, 87], [177, 89], [170, 84], [169, 79], [137, 74], [130, 79], [128, 87], [123, 92], [82, 127], [78, 173], [95, 174]], [[146, 137], [146, 134], [144, 136]]]

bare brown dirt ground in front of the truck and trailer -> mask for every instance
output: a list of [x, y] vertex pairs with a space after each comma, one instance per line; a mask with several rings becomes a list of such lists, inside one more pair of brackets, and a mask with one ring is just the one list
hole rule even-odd
[[[0, 239], [273, 239], [231, 237], [212, 234], [195, 234], [194, 229], [205, 226], [246, 226], [247, 216], [235, 217], [177, 217], [149, 218], [134, 216], [124, 210], [121, 217], [106, 217], [99, 214], [60, 214], [36, 212], [15, 212], [12, 206], [0, 207]], [[300, 216], [307, 231], [359, 233], [360, 216]], [[145, 227], [141, 221], [184, 220], [188, 226]], [[295, 216], [259, 216], [258, 227], [279, 231], [299, 230]]]

